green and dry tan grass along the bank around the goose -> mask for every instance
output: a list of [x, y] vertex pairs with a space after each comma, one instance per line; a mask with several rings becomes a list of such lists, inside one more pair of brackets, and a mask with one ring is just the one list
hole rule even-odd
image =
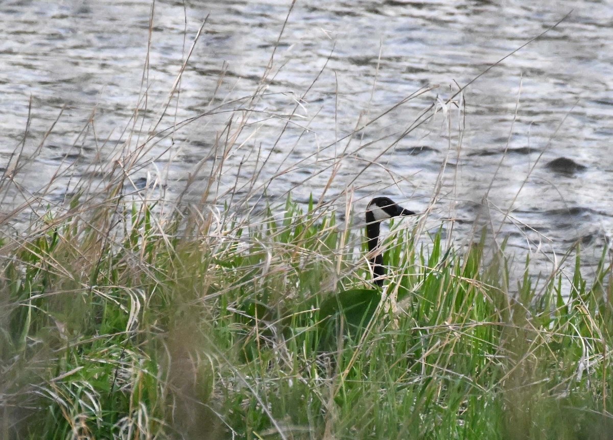
[[[516, 283], [491, 230], [455, 248], [442, 229], [424, 232], [425, 212], [384, 238], [386, 295], [373, 319], [357, 333], [340, 319], [330, 335], [319, 305], [371, 286], [364, 224], [351, 226], [363, 213], [351, 191], [324, 203], [328, 188], [308, 205], [288, 192], [256, 211], [267, 188], [256, 177], [233, 203], [216, 173], [253, 110], [229, 112], [240, 122], [219, 135], [196, 206], [134, 189], [159, 137], [214, 112], [169, 129], [154, 119], [152, 135], [135, 135], [134, 150], [127, 140], [110, 169], [88, 165], [80, 175], [94, 177], [59, 203], [53, 179], [36, 194], [18, 183], [36, 155], [16, 153], [4, 170], [3, 200], [17, 189], [23, 203], [4, 205], [0, 221], [0, 438], [611, 438], [606, 250], [589, 278], [577, 249], [571, 277], [558, 270], [536, 286], [527, 259]], [[135, 112], [126, 132], [148, 117]], [[27, 227], [8, 228], [24, 216]]]

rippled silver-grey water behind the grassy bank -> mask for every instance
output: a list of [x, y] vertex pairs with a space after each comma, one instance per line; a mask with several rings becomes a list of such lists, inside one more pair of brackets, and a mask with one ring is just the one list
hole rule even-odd
[[[2, 211], [29, 195], [59, 203], [81, 179], [99, 180], [103, 191], [105, 173], [134, 159], [143, 166], [128, 181], [142, 188], [158, 176], [168, 200], [187, 182], [186, 199], [198, 199], [218, 169], [215, 189], [234, 203], [291, 190], [301, 202], [311, 192], [326, 200], [353, 194], [365, 207], [384, 194], [430, 210], [424, 228], [442, 221], [460, 241], [474, 225], [489, 225], [509, 249], [530, 252], [534, 274], [549, 272], [576, 241], [593, 266], [613, 227], [607, 2], [298, 0], [288, 15], [290, 6], [2, 2], [0, 167], [12, 174], [25, 164]], [[458, 85], [571, 10], [444, 105]], [[251, 101], [273, 52], [265, 94]], [[236, 108], [256, 110], [240, 132], [245, 113], [229, 124]], [[430, 118], [408, 131], [422, 113]], [[137, 148], [162, 129], [166, 137]], [[233, 136], [224, 152], [219, 145]], [[22, 150], [29, 159], [15, 165]], [[558, 157], [587, 168], [546, 167]]]

